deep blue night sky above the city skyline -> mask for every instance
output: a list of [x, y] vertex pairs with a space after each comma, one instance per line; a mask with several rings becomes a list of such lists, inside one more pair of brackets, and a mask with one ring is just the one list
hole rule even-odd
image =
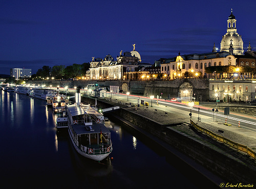
[[[0, 1], [0, 74], [72, 65], [136, 49], [143, 63], [220, 48], [233, 9], [256, 47], [256, 1]], [[246, 49], [245, 49], [246, 50]], [[256, 48], [253, 48], [256, 50]]]

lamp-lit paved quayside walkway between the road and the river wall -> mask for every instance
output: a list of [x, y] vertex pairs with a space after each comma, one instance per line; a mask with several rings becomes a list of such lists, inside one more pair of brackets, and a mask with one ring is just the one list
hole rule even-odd
[[[112, 103], [117, 105], [115, 102], [112, 102]], [[166, 124], [166, 125], [179, 124], [179, 123], [181, 125], [181, 123], [184, 123], [184, 122], [190, 123], [190, 116], [188, 115], [188, 112], [184, 113], [184, 111], [176, 109], [175, 107], [166, 107], [165, 105], [153, 104], [153, 107], [140, 106], [140, 107], [137, 107], [137, 110], [135, 110], [136, 109], [135, 106], [132, 106], [132, 107], [124, 106], [124, 108], [129, 109], [130, 111], [134, 111], [135, 113], [140, 114], [144, 117], [147, 117], [148, 119], [153, 119], [159, 123]], [[233, 114], [233, 112], [230, 112], [230, 114]], [[248, 116], [248, 115], [245, 114], [244, 116]], [[216, 121], [213, 121], [212, 119], [209, 119], [208, 117], [206, 119], [206, 117], [204, 118], [204, 116], [201, 116], [201, 122], [198, 122], [197, 114], [195, 113], [193, 113], [192, 115], [192, 120], [201, 127], [204, 127], [214, 133], [220, 134], [221, 136], [233, 142], [246, 145], [249, 148], [251, 148], [253, 151], [256, 151], [256, 135], [254, 134], [254, 132], [250, 132], [248, 130], [243, 129], [242, 125], [240, 127], [238, 127], [238, 125], [227, 126], [227, 125], [224, 125], [224, 122], [220, 120], [216, 122]], [[182, 125], [182, 126], [175, 126], [174, 128], [181, 130], [185, 133], [188, 133], [191, 136], [198, 137], [198, 134], [195, 133], [195, 131], [191, 130], [191, 128], [188, 126]], [[220, 133], [218, 132], [218, 130], [222, 130], [224, 131], [224, 133]]]

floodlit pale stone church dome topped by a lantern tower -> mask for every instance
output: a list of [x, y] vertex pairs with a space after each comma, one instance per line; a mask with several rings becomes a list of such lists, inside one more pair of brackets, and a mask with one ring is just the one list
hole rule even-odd
[[232, 11], [227, 20], [227, 33], [222, 36], [220, 51], [233, 55], [243, 55], [244, 52], [242, 36], [237, 33], [237, 20]]

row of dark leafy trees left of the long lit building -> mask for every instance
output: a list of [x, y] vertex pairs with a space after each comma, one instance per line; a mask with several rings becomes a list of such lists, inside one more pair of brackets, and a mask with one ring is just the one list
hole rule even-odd
[[41, 77], [54, 77], [56, 79], [68, 79], [75, 78], [77, 76], [86, 75], [87, 70], [90, 68], [90, 63], [73, 64], [71, 66], [55, 65], [53, 67], [43, 66], [38, 69], [36, 74], [32, 75], [32, 78]]

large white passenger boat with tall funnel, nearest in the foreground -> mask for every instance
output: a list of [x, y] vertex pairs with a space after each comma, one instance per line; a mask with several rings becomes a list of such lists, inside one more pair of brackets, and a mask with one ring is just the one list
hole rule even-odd
[[82, 156], [103, 160], [112, 152], [110, 131], [100, 123], [100, 117], [97, 116], [99, 113], [80, 101], [80, 89], [77, 89], [76, 103], [67, 106], [70, 140]]

